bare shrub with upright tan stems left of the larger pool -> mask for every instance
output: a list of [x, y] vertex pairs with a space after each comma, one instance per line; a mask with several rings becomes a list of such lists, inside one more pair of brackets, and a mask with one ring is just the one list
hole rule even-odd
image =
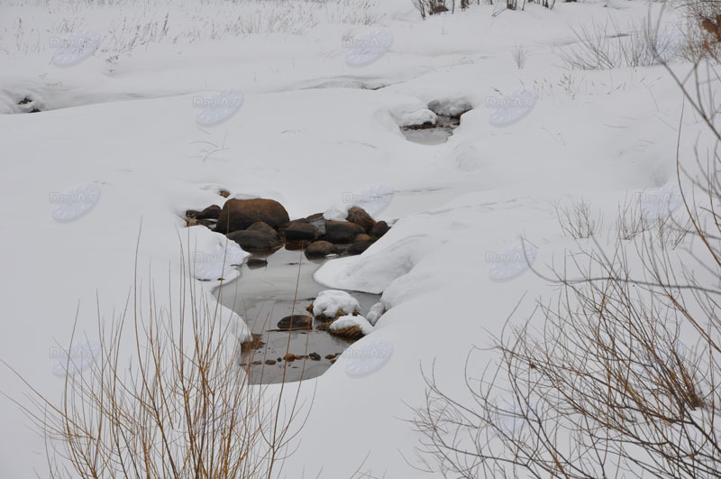
[[219, 304], [194, 280], [174, 287], [178, 303], [163, 307], [136, 279], [125, 311], [100, 328], [95, 361], [66, 374], [61, 401], [32, 390], [31, 405], [18, 402], [46, 438], [51, 477], [279, 476], [310, 407], [300, 383], [290, 396], [286, 384], [251, 386]]

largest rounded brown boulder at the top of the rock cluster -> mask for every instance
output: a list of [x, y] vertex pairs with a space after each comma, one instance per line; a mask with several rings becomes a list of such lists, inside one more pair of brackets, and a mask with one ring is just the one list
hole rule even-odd
[[290, 218], [286, 208], [272, 199], [229, 199], [218, 216], [217, 231], [232, 233], [263, 221], [274, 229], [285, 225]]

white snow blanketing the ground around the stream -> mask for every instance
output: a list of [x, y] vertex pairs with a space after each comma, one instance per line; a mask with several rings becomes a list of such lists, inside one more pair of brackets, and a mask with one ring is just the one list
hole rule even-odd
[[[588, 200], [609, 219], [606, 237], [625, 198], [673, 182], [681, 98], [662, 66], [570, 70], [559, 56], [578, 41], [574, 27], [613, 18], [625, 31], [655, 18], [659, 4], [526, 5], [497, 15], [497, 6], [474, 5], [424, 22], [410, 0], [361, 5], [0, 2], [0, 358], [59, 397], [52, 351], [68, 344], [76, 317], [92, 337], [98, 310], [111, 321], [124, 308], [136, 244], [137, 274], [159, 299], [169, 272], [180, 273], [182, 244], [223, 254], [222, 235], [196, 226], [188, 238], [181, 217], [222, 205], [218, 189], [277, 199], [300, 217], [382, 185], [393, 194], [376, 219], [397, 220], [393, 228], [366, 253], [326, 263], [316, 279], [382, 293], [388, 311], [353, 347], [381, 342], [392, 355], [361, 375], [349, 373], [348, 355], [303, 386], [315, 403], [284, 473], [347, 477], [363, 463], [378, 477], [418, 477], [406, 463], [417, 435], [402, 419], [412, 414], [406, 404], [423, 400], [420, 367], [435, 358], [440, 382], [462, 388], [470, 347], [488, 345], [519, 300], [523, 318], [551, 290], [503, 255], [520, 235], [539, 267], [573, 248], [559, 202]], [[679, 24], [675, 14], [663, 22]], [[251, 20], [238, 28], [242, 15]], [[392, 46], [349, 65], [342, 40], [371, 21], [392, 32]], [[134, 35], [136, 24], [147, 33]], [[100, 32], [95, 54], [53, 64], [52, 39], [80, 29]], [[513, 60], [519, 45], [523, 69]], [[688, 69], [682, 60], [672, 68]], [[198, 101], [229, 89], [242, 92], [237, 112], [199, 125]], [[494, 125], [488, 106], [521, 89], [534, 92], [533, 109]], [[25, 97], [41, 113], [24, 114]], [[432, 102], [436, 113], [473, 109], [447, 143], [407, 142], [398, 125], [433, 117]], [[701, 127], [686, 121], [682, 151]], [[99, 191], [92, 209], [54, 218], [60, 195], [85, 183]], [[203, 284], [209, 295], [214, 283]], [[242, 336], [241, 318], [224, 315]], [[0, 390], [26, 401], [6, 367]], [[0, 475], [44, 477], [43, 440], [7, 397]]]

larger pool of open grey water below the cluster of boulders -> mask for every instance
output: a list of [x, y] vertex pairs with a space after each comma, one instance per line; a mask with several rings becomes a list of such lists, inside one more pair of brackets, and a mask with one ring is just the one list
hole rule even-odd
[[[324, 260], [310, 261], [301, 251], [286, 248], [268, 255], [253, 255], [242, 265], [239, 278], [214, 291], [220, 302], [237, 312], [251, 328], [253, 341], [244, 345], [240, 360], [251, 384], [282, 382], [284, 369], [286, 382], [320, 376], [352, 344], [352, 340], [332, 336], [325, 330], [328, 323], [316, 320], [306, 311], [320, 291], [330, 289], [313, 279], [322, 263]], [[348, 292], [358, 299], [363, 316], [380, 298], [375, 294]], [[278, 321], [290, 315], [313, 318], [312, 329], [278, 330]], [[294, 355], [295, 359], [288, 361], [287, 355]]]

